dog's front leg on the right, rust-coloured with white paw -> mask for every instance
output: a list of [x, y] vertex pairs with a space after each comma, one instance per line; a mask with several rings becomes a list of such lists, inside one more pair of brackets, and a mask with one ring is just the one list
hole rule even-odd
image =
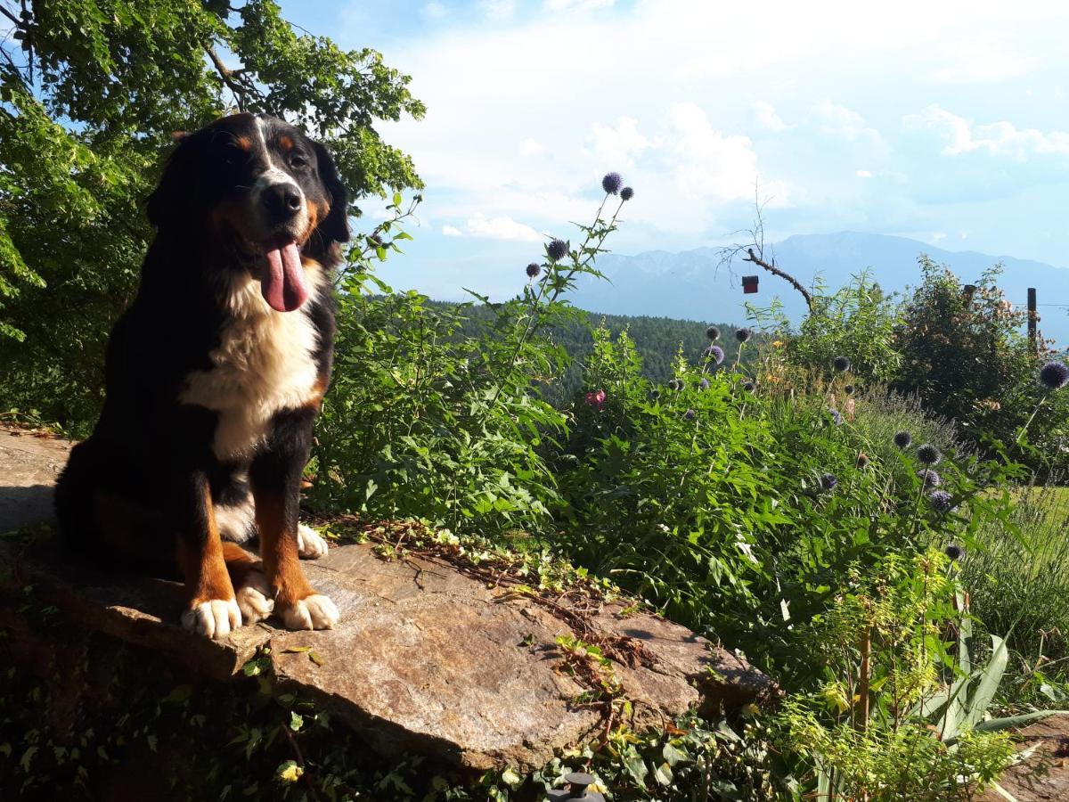
[[305, 579], [297, 543], [300, 474], [311, 453], [314, 419], [312, 407], [279, 413], [266, 447], [249, 466], [260, 556], [275, 593], [275, 613], [291, 630], [328, 630], [338, 622], [335, 603]]

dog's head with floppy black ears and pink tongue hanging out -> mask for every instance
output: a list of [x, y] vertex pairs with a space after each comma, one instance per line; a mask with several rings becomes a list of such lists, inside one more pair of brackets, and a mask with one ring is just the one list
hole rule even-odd
[[323, 259], [348, 241], [345, 189], [330, 154], [264, 114], [182, 135], [148, 211], [161, 232], [222, 237], [280, 312], [308, 297], [301, 256]]

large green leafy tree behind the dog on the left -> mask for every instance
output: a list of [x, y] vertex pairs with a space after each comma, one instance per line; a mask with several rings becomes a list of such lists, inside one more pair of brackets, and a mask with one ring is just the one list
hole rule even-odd
[[[268, 111], [321, 137], [357, 199], [420, 186], [373, 127], [422, 115], [407, 76], [374, 50], [294, 31], [272, 2], [232, 12], [198, 0], [62, 0], [27, 2], [25, 16], [2, 7], [19, 20], [0, 63], [5, 408], [38, 410], [79, 434], [92, 423], [107, 333], [151, 237], [139, 210], [172, 132], [234, 105]], [[220, 52], [239, 65], [227, 67]]]

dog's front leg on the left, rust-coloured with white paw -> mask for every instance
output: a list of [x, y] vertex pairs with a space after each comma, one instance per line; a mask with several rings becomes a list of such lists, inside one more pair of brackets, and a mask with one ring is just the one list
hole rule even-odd
[[171, 514], [179, 527], [176, 556], [188, 592], [182, 626], [208, 637], [226, 637], [242, 626], [242, 612], [223, 560], [207, 476], [202, 471], [183, 473], [171, 489]]

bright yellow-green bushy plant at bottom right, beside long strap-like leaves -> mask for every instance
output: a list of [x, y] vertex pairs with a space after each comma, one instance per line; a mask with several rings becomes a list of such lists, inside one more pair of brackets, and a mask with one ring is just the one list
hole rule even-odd
[[1005, 668], [1002, 641], [974, 672], [964, 595], [940, 552], [892, 555], [876, 569], [856, 571], [806, 628], [825, 682], [786, 703], [788, 749], [812, 761], [828, 800], [971, 799], [1013, 755], [993, 722], [977, 726]]

